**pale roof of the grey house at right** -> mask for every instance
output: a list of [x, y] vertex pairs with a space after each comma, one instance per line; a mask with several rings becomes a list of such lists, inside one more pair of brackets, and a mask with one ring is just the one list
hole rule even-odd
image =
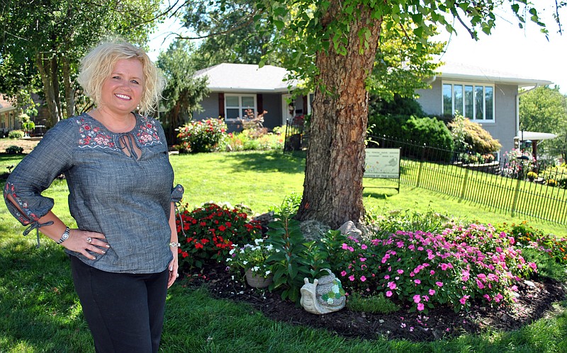
[[445, 62], [444, 65], [439, 66], [437, 72], [439, 72], [439, 76], [442, 79], [512, 84], [520, 87], [546, 86], [553, 83], [542, 79], [534, 79], [529, 76], [529, 71], [522, 74], [512, 74], [510, 72], [456, 62]]

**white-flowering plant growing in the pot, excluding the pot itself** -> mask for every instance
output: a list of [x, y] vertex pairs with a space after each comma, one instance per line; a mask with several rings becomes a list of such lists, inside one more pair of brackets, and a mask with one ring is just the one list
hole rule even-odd
[[258, 238], [254, 239], [254, 244], [246, 244], [242, 248], [236, 247], [230, 250], [226, 262], [232, 271], [251, 270], [252, 273], [265, 278], [271, 273], [267, 259], [273, 253], [275, 253], [274, 246]]

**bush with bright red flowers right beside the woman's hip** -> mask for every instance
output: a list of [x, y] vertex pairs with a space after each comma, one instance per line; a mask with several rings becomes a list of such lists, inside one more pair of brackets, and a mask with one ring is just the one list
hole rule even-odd
[[179, 234], [179, 264], [202, 267], [206, 260], [224, 262], [235, 243], [249, 243], [262, 234], [259, 222], [249, 221], [242, 206], [203, 204], [181, 212], [176, 220]]

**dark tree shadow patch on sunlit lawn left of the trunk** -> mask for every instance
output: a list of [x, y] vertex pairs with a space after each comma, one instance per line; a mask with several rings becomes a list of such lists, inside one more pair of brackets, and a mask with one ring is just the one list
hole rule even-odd
[[292, 153], [271, 151], [269, 153], [226, 154], [225, 158], [227, 161], [230, 161], [235, 171], [240, 172], [305, 173], [305, 152], [302, 151], [294, 151]]

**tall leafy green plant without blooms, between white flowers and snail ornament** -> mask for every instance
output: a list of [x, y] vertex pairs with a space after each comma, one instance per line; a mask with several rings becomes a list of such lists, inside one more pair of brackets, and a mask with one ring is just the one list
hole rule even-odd
[[281, 216], [269, 224], [267, 242], [274, 246], [275, 253], [268, 257], [274, 274], [271, 291], [281, 290], [281, 299], [298, 303], [304, 278], [313, 282], [326, 274], [328, 254], [315, 241], [305, 242], [299, 221]]

